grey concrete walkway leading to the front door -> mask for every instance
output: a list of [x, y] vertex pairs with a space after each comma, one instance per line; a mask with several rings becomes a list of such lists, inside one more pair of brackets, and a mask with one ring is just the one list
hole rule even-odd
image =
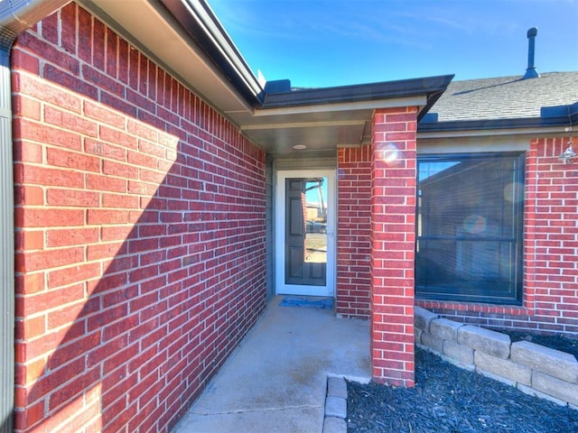
[[279, 307], [263, 318], [172, 433], [321, 433], [327, 377], [368, 382], [369, 324]]

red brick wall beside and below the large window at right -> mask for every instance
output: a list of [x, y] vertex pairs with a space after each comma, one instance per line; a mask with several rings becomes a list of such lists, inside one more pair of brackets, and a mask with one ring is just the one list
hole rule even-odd
[[534, 139], [527, 152], [523, 305], [420, 306], [484, 327], [578, 333], [578, 162], [557, 159], [567, 146], [567, 137]]

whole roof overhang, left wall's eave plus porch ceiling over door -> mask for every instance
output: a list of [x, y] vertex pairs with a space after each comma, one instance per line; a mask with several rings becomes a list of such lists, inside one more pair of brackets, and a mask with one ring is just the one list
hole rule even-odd
[[[275, 158], [334, 157], [371, 139], [376, 108], [425, 114], [452, 76], [266, 93], [202, 0], [79, 0]], [[135, 14], [135, 11], [138, 11]], [[294, 145], [305, 146], [295, 151]]]

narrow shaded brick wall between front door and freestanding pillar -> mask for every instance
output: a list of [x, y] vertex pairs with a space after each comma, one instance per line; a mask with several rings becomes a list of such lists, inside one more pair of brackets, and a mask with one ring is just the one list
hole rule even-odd
[[371, 146], [338, 152], [337, 313], [369, 318]]

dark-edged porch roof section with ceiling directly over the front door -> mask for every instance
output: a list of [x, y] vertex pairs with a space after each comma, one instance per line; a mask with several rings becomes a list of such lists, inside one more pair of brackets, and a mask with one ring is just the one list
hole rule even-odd
[[[339, 147], [370, 143], [378, 108], [416, 106], [418, 118], [453, 76], [267, 94], [251, 115], [229, 113], [243, 134], [277, 158], [336, 156]], [[295, 152], [294, 145], [305, 146]]]

